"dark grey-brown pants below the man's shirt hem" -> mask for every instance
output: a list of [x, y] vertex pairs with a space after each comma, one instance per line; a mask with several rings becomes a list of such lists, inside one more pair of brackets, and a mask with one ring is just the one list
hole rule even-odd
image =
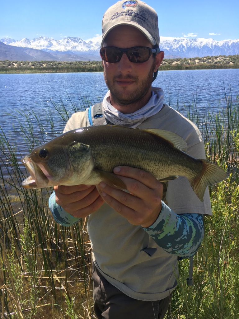
[[128, 297], [111, 285], [92, 263], [94, 309], [98, 319], [163, 319], [170, 296], [157, 301], [142, 301]]

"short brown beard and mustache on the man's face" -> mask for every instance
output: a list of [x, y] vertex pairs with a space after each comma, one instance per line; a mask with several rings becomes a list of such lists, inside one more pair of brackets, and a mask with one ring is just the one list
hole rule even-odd
[[[142, 100], [143, 97], [148, 93], [149, 88], [152, 85], [153, 82], [153, 74], [154, 74], [154, 69], [156, 67], [155, 62], [153, 63], [148, 75], [143, 78], [141, 81], [139, 80], [139, 77], [132, 76], [128, 74], [127, 76], [123, 77], [122, 75], [115, 76], [113, 77], [113, 80], [109, 80], [106, 77], [105, 71], [104, 71], [104, 78], [105, 78], [105, 83], [108, 86], [110, 90], [110, 95], [111, 95], [111, 100], [113, 100], [117, 105], [119, 106], [126, 106], [126, 105], [132, 105], [136, 104], [138, 101]], [[135, 81], [137, 85], [137, 89], [134, 90], [133, 92], [119, 92], [114, 86], [115, 80], [118, 79], [129, 79]]]

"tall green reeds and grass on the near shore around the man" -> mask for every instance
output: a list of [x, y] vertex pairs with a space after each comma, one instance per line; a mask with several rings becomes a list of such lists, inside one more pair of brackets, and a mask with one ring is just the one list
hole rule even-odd
[[[52, 102], [58, 115], [53, 119], [49, 113], [48, 122], [40, 112], [12, 111], [18, 125], [11, 138], [0, 134], [2, 318], [95, 318], [87, 220], [72, 227], [56, 224], [47, 205], [52, 189], [22, 189], [27, 172], [19, 164], [22, 152], [54, 137], [46, 136], [45, 125], [54, 128], [57, 122], [63, 128], [70, 113], [89, 103], [84, 98], [78, 106]], [[228, 179], [210, 188], [213, 216], [205, 217], [205, 239], [194, 257], [194, 286], [186, 286], [188, 260], [180, 261], [166, 318], [239, 318], [239, 98], [232, 101], [229, 94], [226, 107], [208, 114], [200, 114], [195, 99], [185, 115], [200, 128], [207, 158], [227, 170]]]

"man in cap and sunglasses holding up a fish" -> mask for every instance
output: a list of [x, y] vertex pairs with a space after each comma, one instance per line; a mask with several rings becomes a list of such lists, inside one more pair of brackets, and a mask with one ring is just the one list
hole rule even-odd
[[[163, 103], [161, 88], [151, 86], [164, 57], [154, 9], [140, 0], [117, 2], [105, 12], [102, 36], [109, 88], [101, 103], [104, 124], [171, 130], [185, 139], [188, 154], [205, 158], [199, 130]], [[73, 114], [64, 132], [91, 120], [91, 112]], [[97, 318], [162, 319], [177, 285], [178, 256], [193, 256], [202, 241], [203, 214], [211, 214], [209, 193], [202, 203], [183, 177], [160, 183], [132, 167], [115, 167], [114, 174], [128, 192], [104, 182], [56, 186], [49, 207], [66, 226], [90, 215]]]

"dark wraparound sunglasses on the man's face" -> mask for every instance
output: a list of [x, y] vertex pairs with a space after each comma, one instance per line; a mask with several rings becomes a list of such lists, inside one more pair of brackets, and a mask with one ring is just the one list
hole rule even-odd
[[115, 47], [103, 47], [100, 49], [100, 56], [105, 62], [117, 63], [120, 61], [123, 53], [126, 53], [130, 62], [143, 63], [148, 61], [151, 54], [157, 54], [159, 52], [160, 48], [134, 47], [120, 49]]

